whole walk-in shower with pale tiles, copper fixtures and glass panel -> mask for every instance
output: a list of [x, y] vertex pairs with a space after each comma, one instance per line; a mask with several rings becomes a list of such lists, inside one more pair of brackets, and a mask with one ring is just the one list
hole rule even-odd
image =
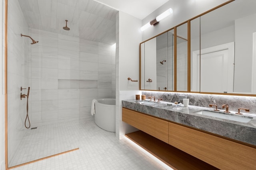
[[[11, 168], [78, 149], [79, 124], [92, 119], [91, 100], [115, 98], [118, 11], [92, 1], [90, 16], [106, 16], [93, 22], [84, 15], [91, 10], [79, 8], [85, 1], [6, 1], [6, 165]], [[27, 88], [22, 94], [20, 86]]]

